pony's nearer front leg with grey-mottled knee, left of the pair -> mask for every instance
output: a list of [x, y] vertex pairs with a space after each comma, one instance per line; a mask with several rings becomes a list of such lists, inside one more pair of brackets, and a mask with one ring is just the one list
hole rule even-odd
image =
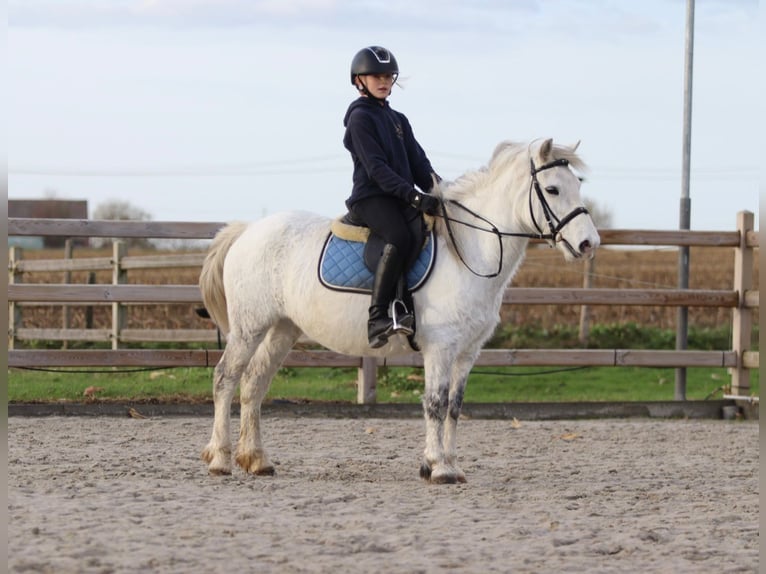
[[459, 476], [457, 470], [447, 461], [444, 451], [449, 378], [442, 367], [450, 361], [444, 360], [443, 356], [439, 359], [437, 362], [424, 354], [426, 388], [423, 394], [423, 415], [426, 422], [426, 448], [420, 466], [420, 476], [434, 484], [452, 484], [458, 482]]

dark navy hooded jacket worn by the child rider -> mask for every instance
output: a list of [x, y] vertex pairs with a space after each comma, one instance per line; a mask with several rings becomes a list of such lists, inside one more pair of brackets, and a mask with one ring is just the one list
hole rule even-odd
[[433, 168], [415, 140], [404, 114], [388, 102], [360, 97], [343, 118], [343, 145], [354, 161], [354, 179], [346, 207], [373, 195], [394, 195], [409, 202], [414, 186], [428, 192]]

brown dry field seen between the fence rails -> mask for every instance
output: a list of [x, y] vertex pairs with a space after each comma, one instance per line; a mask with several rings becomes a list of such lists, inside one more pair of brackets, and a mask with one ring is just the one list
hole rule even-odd
[[[130, 250], [129, 255], [148, 254], [146, 251]], [[157, 252], [151, 252], [157, 254]], [[74, 257], [109, 257], [110, 250], [75, 250]], [[63, 257], [63, 250], [27, 250], [25, 259], [57, 259]], [[731, 289], [734, 269], [734, 250], [721, 247], [697, 247], [691, 249], [690, 287], [693, 289]], [[754, 280], [758, 281], [758, 258], [755, 259]], [[543, 246], [530, 247], [527, 258], [521, 266], [513, 285], [519, 287], [581, 287], [585, 267], [582, 263], [564, 264], [561, 255]], [[642, 289], [675, 288], [678, 283], [678, 251], [675, 248], [652, 250], [627, 250], [602, 248], [595, 259], [593, 287]], [[131, 270], [128, 282], [133, 284], [196, 284], [198, 268]], [[22, 278], [29, 283], [61, 283], [63, 272], [39, 272], [25, 274]], [[73, 272], [70, 282], [86, 283], [86, 272]], [[111, 282], [111, 273], [99, 271], [96, 283]], [[194, 313], [194, 305], [131, 305], [128, 312], [127, 328], [168, 328], [204, 329], [209, 328], [207, 320]], [[506, 306], [502, 312], [503, 323], [530, 325], [540, 328], [554, 326], [576, 326], [579, 321], [579, 306], [519, 305]], [[592, 324], [624, 324], [672, 329], [675, 326], [676, 310], [672, 307], [637, 306], [593, 306]], [[697, 327], [718, 327], [731, 321], [729, 309], [691, 308], [689, 323]], [[25, 327], [60, 327], [61, 307], [25, 307]], [[107, 306], [73, 306], [70, 309], [70, 327], [108, 328], [111, 324], [111, 309]]]

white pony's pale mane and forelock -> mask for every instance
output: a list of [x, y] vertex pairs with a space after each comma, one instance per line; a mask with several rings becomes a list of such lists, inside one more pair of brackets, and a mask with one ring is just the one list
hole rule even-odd
[[[481, 184], [487, 183], [488, 180], [491, 181], [496, 177], [500, 177], [500, 175], [505, 173], [505, 168], [508, 164], [516, 160], [520, 154], [528, 154], [534, 143], [500, 142], [492, 152], [488, 165], [468, 171], [455, 181], [443, 186], [442, 191], [446, 191], [445, 197], [459, 200], [461, 197], [472, 193], [475, 189], [482, 187]], [[577, 146], [569, 147], [554, 144], [551, 150], [553, 156], [551, 160], [566, 159], [574, 169], [585, 172], [587, 171], [587, 166], [582, 158], [577, 155], [576, 148]]]

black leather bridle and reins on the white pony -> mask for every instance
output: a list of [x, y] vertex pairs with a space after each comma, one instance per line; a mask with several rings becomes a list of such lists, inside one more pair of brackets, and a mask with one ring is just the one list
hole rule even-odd
[[[572, 255], [574, 255], [575, 257], [580, 257], [580, 253], [577, 252], [569, 243], [569, 241], [567, 241], [561, 235], [561, 230], [564, 229], [564, 227], [567, 224], [569, 224], [578, 215], [583, 215], [583, 214], [587, 215], [588, 210], [582, 206], [576, 207], [572, 211], [567, 213], [564, 217], [559, 219], [556, 216], [556, 214], [553, 212], [553, 209], [548, 203], [548, 200], [545, 198], [545, 194], [543, 193], [543, 190], [540, 187], [540, 182], [537, 179], [537, 174], [540, 173], [541, 171], [545, 171], [546, 169], [552, 169], [554, 167], [567, 167], [569, 165], [569, 160], [564, 158], [555, 159], [553, 161], [550, 161], [548, 163], [541, 165], [540, 167], [536, 167], [534, 160], [530, 157], [529, 164], [530, 164], [529, 173], [531, 176], [531, 179], [529, 181], [529, 194], [528, 194], [529, 195], [529, 214], [532, 217], [532, 223], [534, 223], [535, 229], [537, 229], [537, 233], [500, 231], [495, 226], [494, 223], [492, 223], [489, 219], [487, 219], [483, 215], [479, 215], [475, 211], [467, 208], [465, 205], [463, 205], [459, 201], [450, 199], [450, 200], [447, 200], [449, 201], [450, 204], [471, 214], [476, 219], [483, 221], [489, 226], [489, 228], [481, 227], [479, 225], [474, 225], [472, 223], [461, 221], [459, 219], [453, 219], [447, 215], [446, 206], [444, 205], [444, 202], [442, 201], [441, 217], [444, 219], [445, 227], [447, 228], [447, 235], [449, 236], [450, 241], [452, 242], [452, 246], [455, 248], [455, 253], [458, 256], [458, 259], [460, 259], [460, 262], [466, 267], [466, 269], [468, 269], [471, 273], [473, 273], [477, 277], [492, 278], [492, 277], [497, 277], [502, 272], [503, 270], [503, 237], [526, 237], [528, 239], [542, 239], [544, 241], [547, 241], [548, 244], [551, 246], [554, 246], [556, 243], [561, 241], [563, 242], [564, 246], [570, 251], [570, 253], [572, 253]], [[548, 233], [543, 232], [542, 228], [540, 227], [540, 224], [537, 222], [537, 218], [535, 217], [535, 210], [532, 205], [532, 190], [535, 191], [535, 194], [537, 195], [537, 199], [540, 202], [540, 205], [542, 205], [543, 214], [545, 215], [545, 221], [548, 224]], [[468, 262], [466, 262], [466, 260], [463, 258], [462, 253], [460, 253], [460, 248], [458, 247], [457, 242], [455, 241], [455, 236], [452, 232], [452, 225], [451, 225], [452, 223], [458, 223], [460, 225], [464, 225], [466, 227], [470, 227], [478, 231], [483, 231], [485, 233], [492, 233], [493, 235], [497, 237], [497, 241], [500, 246], [500, 257], [498, 261], [497, 271], [495, 271], [494, 273], [478, 273], [471, 268]]]

